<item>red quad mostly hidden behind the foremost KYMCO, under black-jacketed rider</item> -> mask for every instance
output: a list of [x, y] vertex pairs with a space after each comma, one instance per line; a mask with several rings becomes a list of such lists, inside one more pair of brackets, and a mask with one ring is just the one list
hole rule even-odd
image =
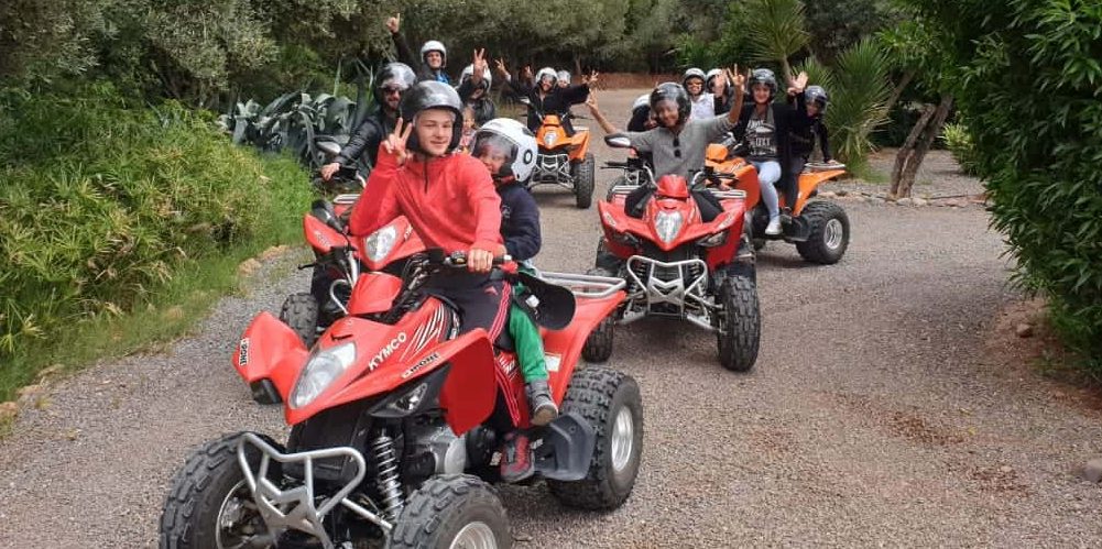
[[404, 260], [424, 251], [424, 243], [404, 217], [364, 239], [349, 238], [345, 220], [359, 195], [337, 195], [331, 204], [315, 200], [302, 218], [302, 232], [314, 251], [310, 292], [291, 294], [280, 309], [280, 320], [294, 330], [306, 347], [334, 320], [348, 314], [346, 304], [364, 271], [400, 274]]

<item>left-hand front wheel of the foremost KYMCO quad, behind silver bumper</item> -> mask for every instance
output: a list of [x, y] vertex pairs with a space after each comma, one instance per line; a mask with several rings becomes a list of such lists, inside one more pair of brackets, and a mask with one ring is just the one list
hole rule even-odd
[[[176, 471], [161, 510], [162, 549], [225, 549], [253, 547], [250, 541], [269, 539], [271, 532], [257, 510], [237, 461], [240, 433], [207, 442]], [[279, 451], [283, 447], [261, 436]], [[260, 451], [247, 446], [248, 461], [256, 466]], [[279, 464], [269, 464], [269, 477], [279, 479]], [[227, 524], [228, 523], [228, 524]], [[274, 539], [267, 541], [274, 545]], [[263, 545], [255, 547], [264, 547]]]

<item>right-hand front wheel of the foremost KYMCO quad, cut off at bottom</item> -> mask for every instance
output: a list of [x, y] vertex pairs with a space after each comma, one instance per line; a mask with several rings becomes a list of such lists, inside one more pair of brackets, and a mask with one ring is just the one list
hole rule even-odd
[[410, 495], [387, 543], [391, 549], [511, 546], [509, 517], [497, 492], [468, 474], [425, 481]]

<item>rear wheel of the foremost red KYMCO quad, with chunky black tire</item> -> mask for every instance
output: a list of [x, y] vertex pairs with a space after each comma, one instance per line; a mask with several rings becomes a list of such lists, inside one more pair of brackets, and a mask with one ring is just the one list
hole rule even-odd
[[627, 374], [601, 366], [575, 371], [562, 403], [563, 413], [576, 411], [597, 431], [590, 472], [581, 481], [548, 480], [548, 488], [563, 505], [583, 509], [615, 509], [635, 487], [642, 460], [642, 398]]

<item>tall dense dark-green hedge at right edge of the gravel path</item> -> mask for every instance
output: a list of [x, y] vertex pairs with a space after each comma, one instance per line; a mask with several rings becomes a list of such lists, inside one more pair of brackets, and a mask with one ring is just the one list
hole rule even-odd
[[1102, 3], [914, 2], [944, 29], [944, 81], [1018, 282], [1102, 372]]

